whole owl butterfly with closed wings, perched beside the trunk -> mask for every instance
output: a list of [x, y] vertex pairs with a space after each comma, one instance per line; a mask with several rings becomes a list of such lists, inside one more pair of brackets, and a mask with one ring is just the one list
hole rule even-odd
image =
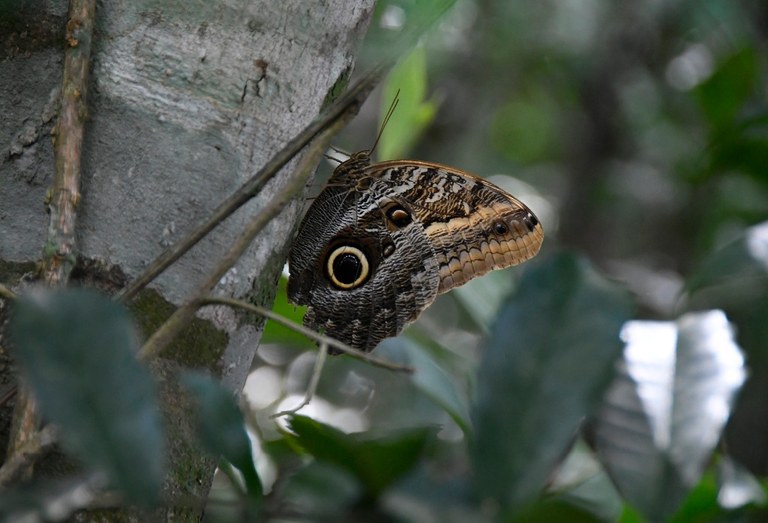
[[333, 171], [288, 261], [304, 324], [364, 351], [438, 294], [532, 258], [544, 239], [531, 210], [492, 183], [431, 162], [371, 163], [371, 150]]

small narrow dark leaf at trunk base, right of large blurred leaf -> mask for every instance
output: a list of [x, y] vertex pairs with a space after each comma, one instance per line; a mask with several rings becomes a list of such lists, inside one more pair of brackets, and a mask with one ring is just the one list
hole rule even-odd
[[251, 441], [232, 392], [200, 373], [187, 372], [181, 381], [197, 402], [197, 435], [203, 447], [234, 465], [243, 474], [248, 493], [261, 498], [264, 492], [253, 463]]

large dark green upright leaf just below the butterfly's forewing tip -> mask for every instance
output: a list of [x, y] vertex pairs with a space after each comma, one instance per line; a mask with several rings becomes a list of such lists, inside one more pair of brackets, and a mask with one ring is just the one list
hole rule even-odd
[[535, 499], [599, 406], [630, 310], [623, 289], [572, 255], [526, 272], [480, 368], [471, 449], [477, 492], [510, 510]]

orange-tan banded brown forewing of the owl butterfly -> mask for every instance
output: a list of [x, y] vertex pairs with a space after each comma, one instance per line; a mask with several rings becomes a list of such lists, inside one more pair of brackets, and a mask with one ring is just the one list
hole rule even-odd
[[415, 160], [373, 164], [363, 174], [389, 187], [421, 223], [439, 265], [439, 293], [539, 252], [544, 229], [536, 215], [487, 180]]

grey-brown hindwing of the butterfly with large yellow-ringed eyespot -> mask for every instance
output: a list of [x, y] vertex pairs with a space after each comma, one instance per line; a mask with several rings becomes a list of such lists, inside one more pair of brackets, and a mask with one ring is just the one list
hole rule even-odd
[[423, 227], [403, 219], [386, 190], [329, 183], [307, 211], [289, 258], [288, 297], [308, 305], [304, 324], [364, 351], [399, 334], [439, 288]]

